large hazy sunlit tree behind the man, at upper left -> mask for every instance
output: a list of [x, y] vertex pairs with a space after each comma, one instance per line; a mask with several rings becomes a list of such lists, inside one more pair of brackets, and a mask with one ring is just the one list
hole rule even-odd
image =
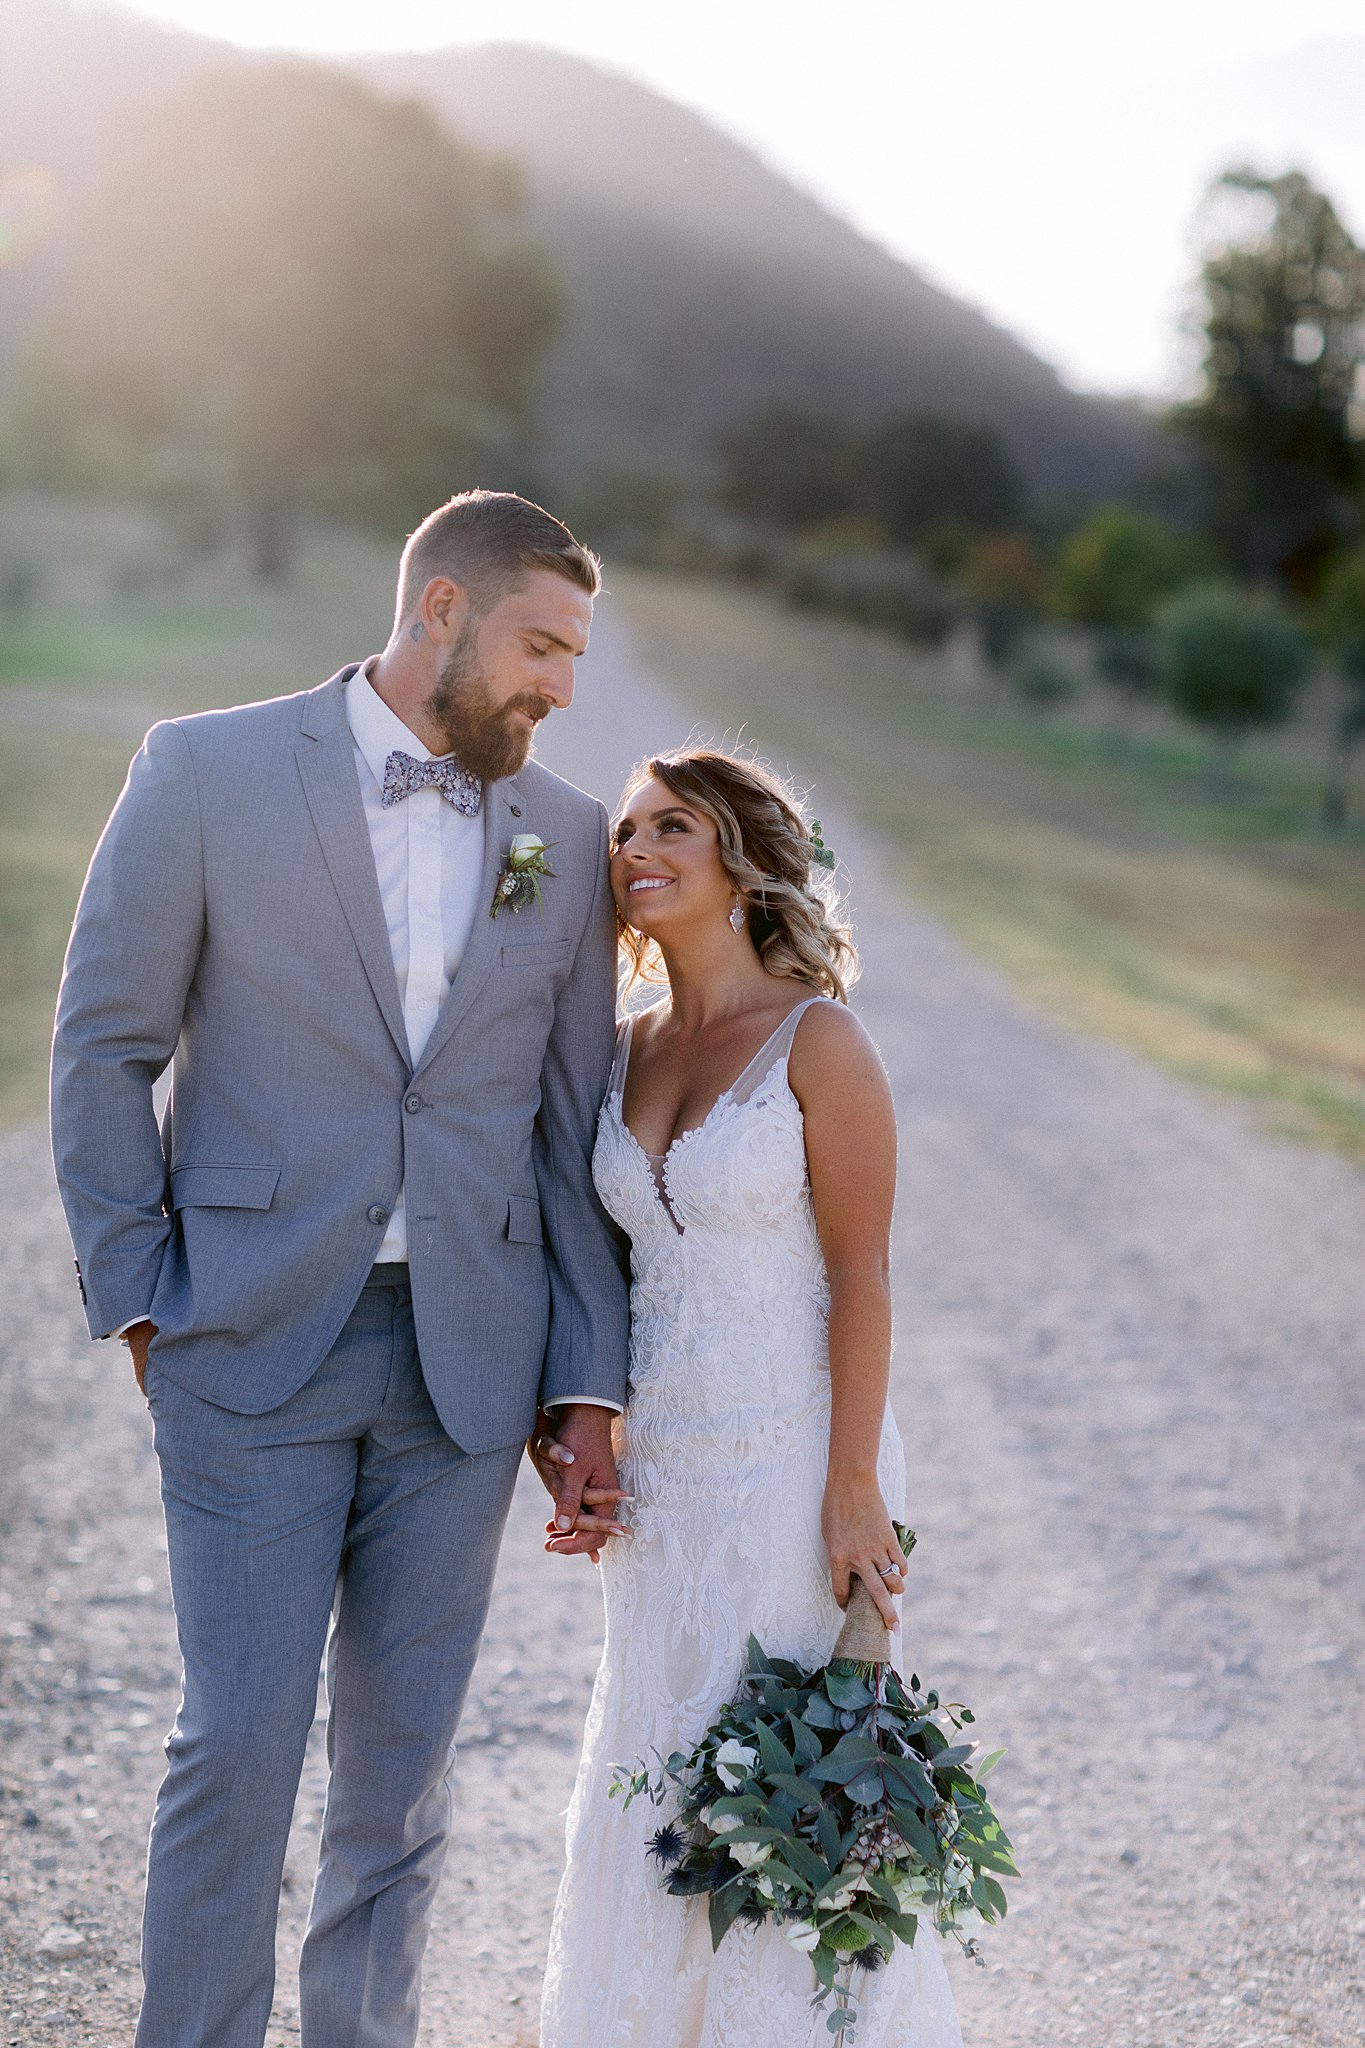
[[239, 508], [282, 573], [299, 510], [403, 518], [505, 459], [557, 317], [508, 166], [340, 72], [237, 63], [113, 147], [29, 434]]

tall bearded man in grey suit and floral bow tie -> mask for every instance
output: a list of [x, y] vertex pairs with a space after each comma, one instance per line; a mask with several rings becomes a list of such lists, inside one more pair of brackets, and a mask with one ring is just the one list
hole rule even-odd
[[[329, 1618], [303, 2042], [411, 2044], [538, 1403], [573, 1454], [559, 1526], [616, 1485], [606, 815], [528, 760], [598, 588], [538, 506], [454, 498], [381, 655], [147, 733], [86, 879], [53, 1151], [90, 1333], [125, 1337], [151, 1407], [184, 1659], [137, 2048], [264, 2040]], [[518, 834], [540, 903], [491, 915]]]

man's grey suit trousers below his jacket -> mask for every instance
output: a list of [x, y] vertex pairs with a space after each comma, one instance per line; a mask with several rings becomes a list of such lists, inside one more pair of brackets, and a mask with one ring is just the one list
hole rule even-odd
[[332, 1784], [299, 1966], [305, 2048], [411, 2048], [454, 1726], [520, 1446], [469, 1456], [422, 1380], [407, 1268], [317, 1372], [239, 1415], [156, 1368], [184, 1698], [147, 1864], [137, 2048], [262, 2048], [327, 1622]]

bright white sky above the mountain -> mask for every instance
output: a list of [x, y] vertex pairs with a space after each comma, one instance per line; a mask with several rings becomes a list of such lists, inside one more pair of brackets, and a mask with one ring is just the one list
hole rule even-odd
[[131, 4], [254, 47], [530, 41], [628, 72], [1089, 389], [1187, 375], [1191, 221], [1228, 162], [1306, 168], [1365, 238], [1365, 0]]

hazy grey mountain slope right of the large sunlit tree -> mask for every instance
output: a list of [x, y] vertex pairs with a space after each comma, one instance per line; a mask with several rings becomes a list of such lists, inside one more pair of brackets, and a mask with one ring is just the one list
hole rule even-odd
[[774, 393], [986, 418], [1058, 496], [1113, 489], [1150, 457], [1136, 414], [1068, 391], [984, 313], [634, 80], [522, 45], [360, 70], [524, 164], [573, 291], [548, 410], [579, 459], [622, 442], [694, 459]]

